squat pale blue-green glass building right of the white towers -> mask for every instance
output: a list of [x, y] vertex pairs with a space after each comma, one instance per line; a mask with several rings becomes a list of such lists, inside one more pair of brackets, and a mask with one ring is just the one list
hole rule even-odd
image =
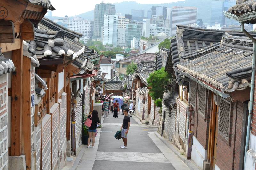
[[137, 39], [136, 44], [139, 46], [140, 37], [142, 35], [142, 25], [141, 24], [127, 24], [126, 25], [126, 31], [125, 31], [125, 44], [126, 46], [131, 45], [131, 41], [133, 40], [133, 37]]

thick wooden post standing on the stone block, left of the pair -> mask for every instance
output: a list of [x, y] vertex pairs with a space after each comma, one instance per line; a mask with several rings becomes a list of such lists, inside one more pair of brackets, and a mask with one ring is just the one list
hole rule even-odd
[[[21, 155], [21, 111], [22, 111], [22, 66], [23, 45], [12, 51], [12, 62], [16, 70], [12, 73], [12, 102], [11, 102], [11, 156]], [[30, 74], [29, 74], [30, 75]], [[30, 87], [30, 85], [29, 85]]]

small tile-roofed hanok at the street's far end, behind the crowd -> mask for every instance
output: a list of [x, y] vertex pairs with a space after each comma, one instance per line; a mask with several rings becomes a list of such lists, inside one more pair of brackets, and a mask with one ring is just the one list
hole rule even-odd
[[113, 93], [114, 95], [117, 96], [123, 96], [123, 85], [122, 81], [107, 81], [103, 83], [103, 94], [111, 94]]

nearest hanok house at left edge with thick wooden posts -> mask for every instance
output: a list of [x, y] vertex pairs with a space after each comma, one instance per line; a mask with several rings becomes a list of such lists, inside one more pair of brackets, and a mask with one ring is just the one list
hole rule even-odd
[[32, 169], [40, 162], [36, 157], [41, 155], [37, 152], [41, 141], [36, 138], [41, 138], [41, 133], [34, 121], [38, 115], [35, 113], [36, 94], [44, 95], [47, 86], [41, 81], [41, 88], [35, 89], [35, 79], [40, 79], [35, 73], [39, 62], [33, 48], [24, 46], [24, 40], [34, 40], [34, 26], [48, 9], [55, 9], [48, 0], [2, 0], [0, 6], [0, 167]]

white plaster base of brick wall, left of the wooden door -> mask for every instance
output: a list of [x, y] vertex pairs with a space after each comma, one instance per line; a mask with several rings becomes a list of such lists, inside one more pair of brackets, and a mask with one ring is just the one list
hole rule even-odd
[[200, 144], [200, 142], [193, 136], [193, 145], [192, 145], [192, 153], [191, 160], [195, 162], [197, 166], [203, 168], [204, 160], [207, 159], [207, 150]]

